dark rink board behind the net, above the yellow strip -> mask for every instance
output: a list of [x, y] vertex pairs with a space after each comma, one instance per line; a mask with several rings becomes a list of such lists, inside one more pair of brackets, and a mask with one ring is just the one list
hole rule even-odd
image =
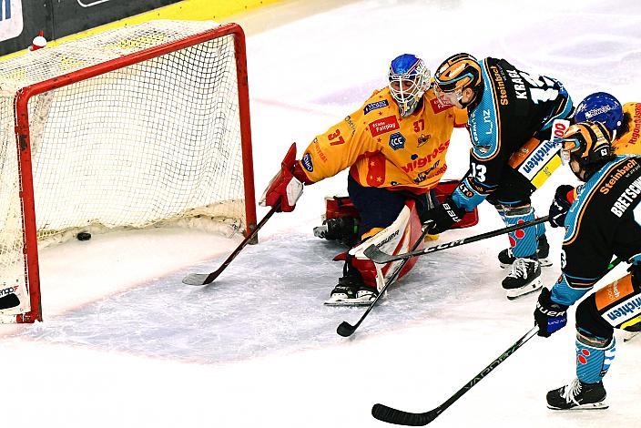
[[[81, 1], [88, 5], [97, 0]], [[23, 32], [20, 36], [0, 42], [0, 56], [31, 46], [40, 30], [43, 30], [47, 41], [52, 41], [179, 1], [109, 0], [83, 7], [77, 0], [23, 0]]]

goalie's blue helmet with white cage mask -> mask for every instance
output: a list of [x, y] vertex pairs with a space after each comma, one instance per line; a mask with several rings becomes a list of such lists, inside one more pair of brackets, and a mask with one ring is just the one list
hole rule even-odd
[[421, 58], [411, 54], [396, 56], [388, 74], [390, 92], [402, 117], [410, 116], [430, 87], [430, 70]]

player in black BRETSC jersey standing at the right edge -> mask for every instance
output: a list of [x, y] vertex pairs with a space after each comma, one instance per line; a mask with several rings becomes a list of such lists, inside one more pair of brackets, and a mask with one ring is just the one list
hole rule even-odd
[[561, 276], [541, 290], [534, 311], [539, 335], [565, 326], [567, 308], [605, 276], [613, 256], [631, 267], [576, 308], [576, 379], [547, 393], [551, 409], [606, 408], [614, 329], [641, 328], [641, 156], [616, 156], [611, 139], [599, 122], [575, 124], [562, 139], [561, 158], [585, 185], [565, 217]]

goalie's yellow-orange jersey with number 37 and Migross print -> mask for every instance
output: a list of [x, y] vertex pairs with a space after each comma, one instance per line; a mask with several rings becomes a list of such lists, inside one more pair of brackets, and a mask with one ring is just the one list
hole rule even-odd
[[421, 106], [401, 117], [388, 87], [327, 132], [317, 136], [299, 160], [308, 183], [345, 168], [361, 186], [424, 193], [443, 177], [453, 127], [467, 124], [467, 112], [443, 105], [429, 89]]

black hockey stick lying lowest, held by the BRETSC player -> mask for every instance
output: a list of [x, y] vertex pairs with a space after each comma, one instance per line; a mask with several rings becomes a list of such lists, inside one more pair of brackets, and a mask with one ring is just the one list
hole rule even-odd
[[499, 357], [493, 362], [490, 362], [490, 365], [485, 367], [483, 369], [483, 372], [480, 372], [479, 374], [474, 376], [474, 378], [470, 382], [467, 382], [463, 386], [463, 388], [453, 394], [452, 397], [450, 397], [445, 403], [441, 404], [437, 408], [425, 413], [410, 413], [403, 412], [402, 410], [392, 409], [392, 407], [388, 407], [384, 404], [374, 404], [371, 408], [371, 415], [379, 421], [386, 423], [396, 423], [397, 425], [423, 426], [431, 423], [441, 413], [443, 413], [445, 409], [450, 407], [456, 400], [461, 398], [465, 392], [470, 391], [476, 383], [480, 382], [485, 376], [487, 376], [496, 367], [498, 367], [500, 363], [507, 360], [507, 357], [516, 352], [517, 349], [521, 348], [521, 346], [523, 346], [526, 341], [532, 339], [537, 331], [539, 331], [538, 326], [534, 326], [532, 330], [526, 332], [524, 336], [516, 341], [512, 346], [510, 346], [507, 351], [499, 355]]

